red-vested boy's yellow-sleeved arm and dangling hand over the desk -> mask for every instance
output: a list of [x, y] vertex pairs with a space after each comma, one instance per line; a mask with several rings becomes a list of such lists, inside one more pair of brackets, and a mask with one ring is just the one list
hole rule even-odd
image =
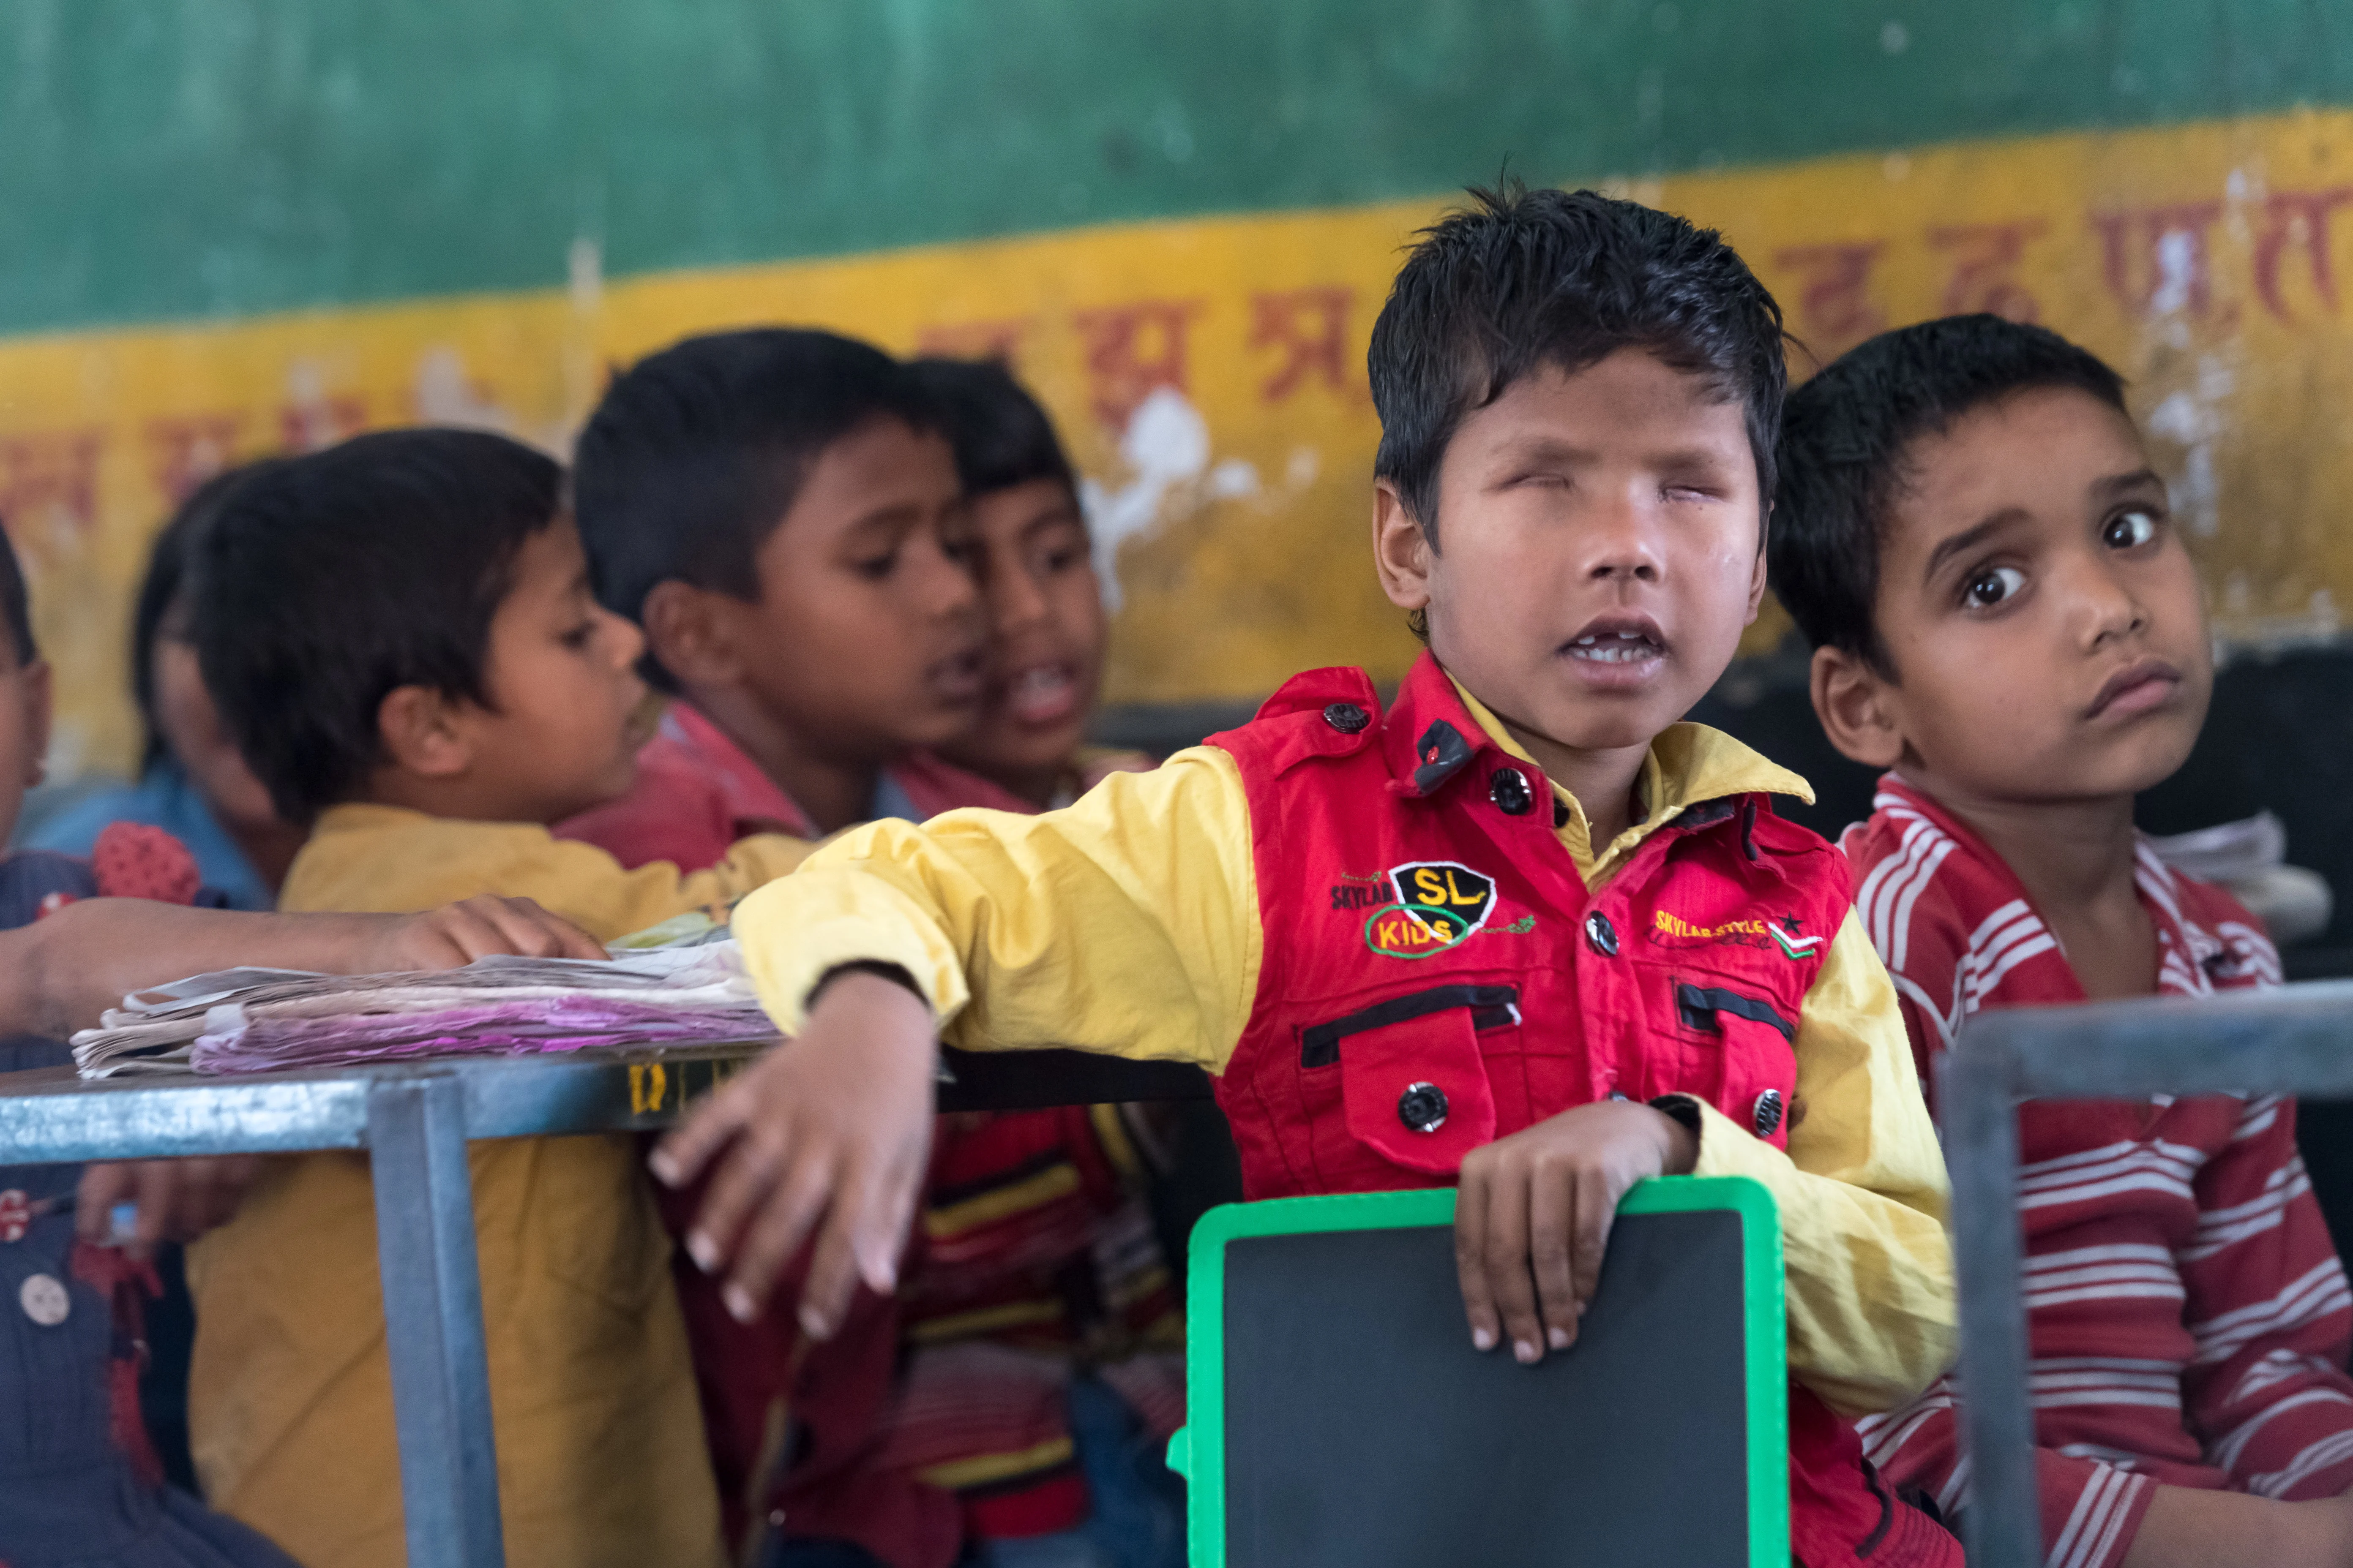
[[765, 1309], [814, 1234], [802, 1324], [824, 1338], [859, 1274], [892, 1276], [936, 1034], [1226, 1065], [1261, 952], [1240, 776], [1200, 748], [1045, 816], [871, 823], [746, 898], [734, 929], [793, 1039], [671, 1133], [654, 1173], [715, 1168], [687, 1246], [727, 1272], [739, 1316]]

